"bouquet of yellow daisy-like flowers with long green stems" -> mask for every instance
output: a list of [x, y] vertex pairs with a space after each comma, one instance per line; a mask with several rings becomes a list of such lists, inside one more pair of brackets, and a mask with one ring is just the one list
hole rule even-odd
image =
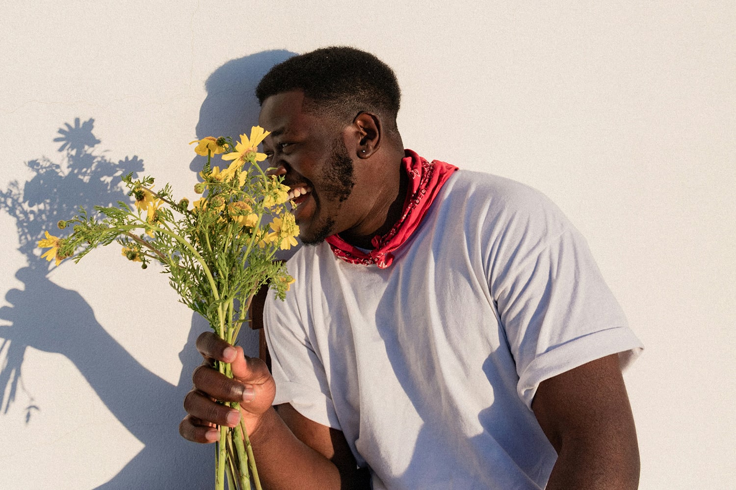
[[[122, 255], [146, 268], [151, 261], [163, 265], [169, 284], [180, 300], [205, 317], [213, 330], [230, 344], [247, 317], [251, 300], [264, 284], [283, 299], [294, 281], [275, 252], [297, 244], [299, 227], [289, 212], [289, 187], [281, 178], [263, 172], [258, 162], [266, 155], [258, 145], [269, 134], [254, 126], [250, 137], [239, 142], [230, 137], [195, 140], [197, 154], [207, 156], [202, 182], [194, 191], [202, 198], [190, 203], [176, 201], [169, 184], [154, 189], [154, 179], [122, 178], [132, 196], [132, 206], [95, 206], [96, 214], [84, 208], [59, 228], [70, 228], [68, 237], [45, 231], [40, 248], [43, 257], [60, 264], [73, 257], [79, 262], [99, 245], [118, 242]], [[220, 170], [212, 165], [214, 155], [230, 164]], [[293, 203], [292, 203], [293, 204]], [[230, 364], [216, 362], [216, 369], [233, 376]], [[238, 403], [230, 406], [238, 408]], [[220, 428], [216, 453], [216, 489], [224, 490], [227, 476], [231, 490], [250, 490], [251, 480], [261, 489], [248, 434], [242, 425]]]

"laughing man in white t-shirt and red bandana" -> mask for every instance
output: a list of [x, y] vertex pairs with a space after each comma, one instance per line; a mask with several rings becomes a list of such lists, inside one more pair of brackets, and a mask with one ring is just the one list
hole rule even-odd
[[637, 488], [640, 342], [559, 209], [404, 151], [394, 74], [363, 51], [291, 58], [256, 92], [314, 246], [266, 303], [273, 377], [200, 336], [182, 435], [243, 417], [268, 489]]

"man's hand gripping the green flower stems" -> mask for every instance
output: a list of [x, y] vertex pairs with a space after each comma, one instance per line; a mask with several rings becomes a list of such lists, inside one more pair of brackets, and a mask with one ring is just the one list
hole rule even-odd
[[[274, 379], [261, 359], [244, 356], [242, 347], [233, 347], [213, 332], [197, 338], [197, 350], [205, 358], [194, 370], [194, 389], [184, 398], [188, 415], [179, 425], [181, 435], [193, 442], [215, 442], [217, 425], [235, 427], [243, 417], [249, 434], [258, 430], [261, 416], [271, 408], [276, 394]], [[229, 362], [233, 379], [213, 369], [213, 361]], [[216, 400], [238, 402], [241, 411]]]

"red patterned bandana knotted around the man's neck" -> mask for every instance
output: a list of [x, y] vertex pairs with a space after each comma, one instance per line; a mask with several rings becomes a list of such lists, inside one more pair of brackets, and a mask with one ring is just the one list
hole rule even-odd
[[376, 264], [381, 269], [389, 267], [394, 262], [392, 254], [403, 245], [417, 226], [422, 222], [422, 217], [429, 210], [434, 198], [439, 194], [442, 185], [453, 174], [458, 167], [449, 163], [433, 160], [427, 162], [421, 156], [411, 150], [405, 150], [406, 156], [401, 163], [409, 177], [406, 200], [404, 201], [403, 214], [394, 224], [393, 228], [383, 237], [373, 237], [371, 243], [373, 250], [365, 253], [359, 248], [353, 247], [345, 242], [339, 235], [328, 237], [330, 248], [340, 259], [351, 264]]

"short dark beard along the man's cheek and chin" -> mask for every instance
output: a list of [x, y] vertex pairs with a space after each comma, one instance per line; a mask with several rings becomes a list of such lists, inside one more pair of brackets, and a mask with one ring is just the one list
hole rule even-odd
[[330, 216], [323, 218], [322, 223], [316, 223], [317, 229], [314, 236], [303, 238], [304, 245], [319, 245], [324, 242], [327, 237], [333, 234], [333, 228], [336, 220], [333, 217], [342, 207], [342, 203], [350, 197], [353, 192], [353, 159], [347, 153], [345, 143], [342, 138], [338, 137], [333, 142], [332, 156], [330, 162], [325, 167], [325, 176], [322, 179], [322, 192], [320, 192], [320, 203], [335, 203], [335, 210]]

